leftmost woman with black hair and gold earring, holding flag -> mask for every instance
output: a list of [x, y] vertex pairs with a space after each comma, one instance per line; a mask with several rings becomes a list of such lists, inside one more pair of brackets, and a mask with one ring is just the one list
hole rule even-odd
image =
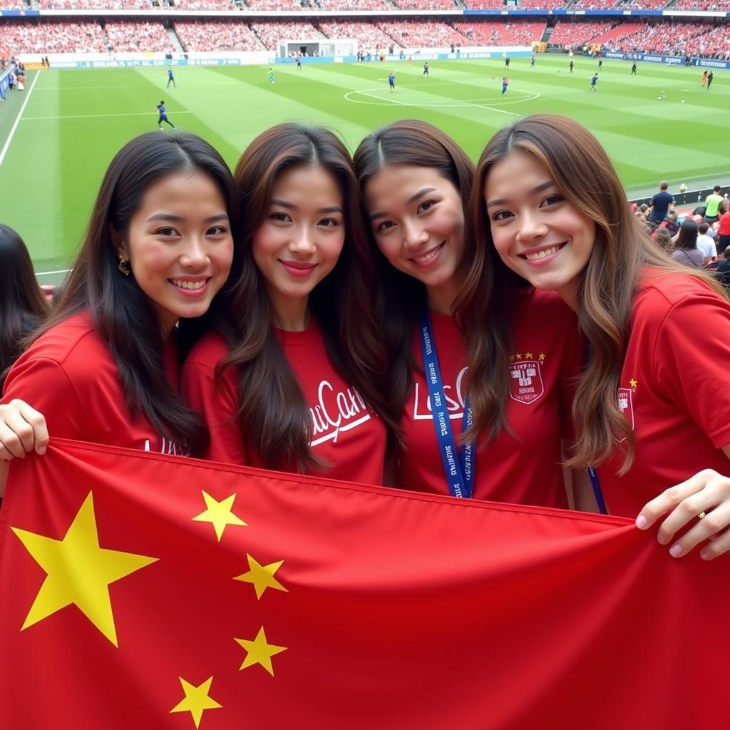
[[42, 453], [48, 432], [204, 449], [207, 429], [177, 392], [174, 330], [204, 315], [226, 282], [236, 212], [231, 173], [199, 137], [142, 134], [120, 150], [61, 301], [5, 382], [1, 459]]

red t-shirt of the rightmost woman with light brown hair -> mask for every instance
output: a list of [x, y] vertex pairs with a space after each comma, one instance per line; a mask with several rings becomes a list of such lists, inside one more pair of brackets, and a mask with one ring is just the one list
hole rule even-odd
[[636, 517], [659, 493], [702, 469], [730, 475], [730, 303], [685, 274], [645, 277], [634, 301], [618, 401], [636, 458], [599, 468], [609, 511]]

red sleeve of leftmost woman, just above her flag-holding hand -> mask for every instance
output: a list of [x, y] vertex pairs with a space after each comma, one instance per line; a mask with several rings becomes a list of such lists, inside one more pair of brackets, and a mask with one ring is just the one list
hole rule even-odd
[[0, 403], [18, 398], [42, 413], [50, 437], [84, 440], [85, 409], [63, 366], [50, 358], [21, 358], [12, 366]]

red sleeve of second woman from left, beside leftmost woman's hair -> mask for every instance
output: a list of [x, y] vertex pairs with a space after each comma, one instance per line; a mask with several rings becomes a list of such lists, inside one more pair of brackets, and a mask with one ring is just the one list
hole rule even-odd
[[210, 430], [210, 447], [205, 458], [223, 464], [250, 465], [235, 420], [238, 395], [234, 371], [229, 368], [220, 380], [216, 380], [212, 367], [188, 358], [183, 366], [180, 388]]

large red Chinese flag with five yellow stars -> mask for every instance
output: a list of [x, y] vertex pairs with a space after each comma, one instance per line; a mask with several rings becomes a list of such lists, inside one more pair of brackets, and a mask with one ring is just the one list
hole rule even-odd
[[3, 730], [730, 727], [728, 560], [621, 518], [56, 439], [0, 550]]

